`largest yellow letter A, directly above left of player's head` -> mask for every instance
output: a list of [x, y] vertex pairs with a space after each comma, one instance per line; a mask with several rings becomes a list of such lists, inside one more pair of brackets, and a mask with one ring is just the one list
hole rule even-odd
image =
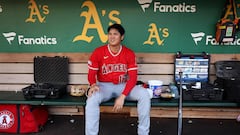
[[[73, 39], [73, 42], [76, 42], [79, 40], [83, 40], [88, 43], [91, 42], [94, 37], [86, 35], [87, 31], [89, 29], [96, 29], [98, 32], [98, 35], [100, 36], [100, 40], [102, 42], [107, 42], [107, 35], [103, 31], [103, 27], [102, 27], [102, 24], [100, 22], [100, 19], [99, 19], [98, 13], [97, 13], [96, 6], [94, 5], [94, 3], [92, 1], [85, 1], [81, 8], [83, 8], [85, 6], [88, 7], [89, 11], [84, 11], [80, 14], [80, 16], [83, 16], [86, 18], [84, 26], [83, 26], [82, 34], [76, 36]], [[91, 18], [94, 21], [93, 24], [90, 23]]]

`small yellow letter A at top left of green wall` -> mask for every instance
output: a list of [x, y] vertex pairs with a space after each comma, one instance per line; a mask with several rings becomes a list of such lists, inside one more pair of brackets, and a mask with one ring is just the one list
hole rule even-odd
[[30, 15], [29, 18], [25, 20], [25, 22], [35, 22], [36, 19], [34, 16], [37, 16], [38, 20], [42, 23], [45, 20], [45, 17], [42, 17], [40, 14], [40, 11], [37, 7], [37, 4], [34, 0], [29, 0], [30, 5], [28, 8], [30, 9]]

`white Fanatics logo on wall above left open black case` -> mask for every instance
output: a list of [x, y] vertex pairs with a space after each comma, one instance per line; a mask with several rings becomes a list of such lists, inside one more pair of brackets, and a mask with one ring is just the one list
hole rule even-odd
[[56, 45], [57, 38], [47, 37], [25, 37], [24, 35], [17, 35], [16, 32], [2, 33], [10, 45], [13, 44], [15, 37], [17, 37], [18, 45]]

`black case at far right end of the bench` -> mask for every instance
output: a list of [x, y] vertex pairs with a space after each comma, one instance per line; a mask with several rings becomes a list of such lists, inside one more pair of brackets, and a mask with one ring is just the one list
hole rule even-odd
[[215, 83], [224, 89], [223, 99], [240, 102], [240, 61], [217, 61]]

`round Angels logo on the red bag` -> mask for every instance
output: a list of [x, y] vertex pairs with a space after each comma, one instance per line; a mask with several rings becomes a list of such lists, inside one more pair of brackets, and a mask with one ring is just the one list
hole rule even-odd
[[0, 112], [0, 129], [9, 129], [14, 124], [14, 115], [12, 112], [4, 110]]

